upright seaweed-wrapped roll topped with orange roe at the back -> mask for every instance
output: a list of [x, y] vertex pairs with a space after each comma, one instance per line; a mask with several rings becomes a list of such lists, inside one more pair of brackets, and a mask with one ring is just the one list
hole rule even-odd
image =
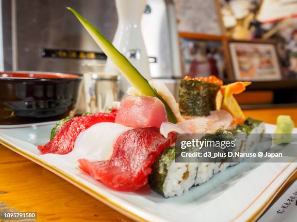
[[207, 116], [215, 110], [216, 93], [223, 84], [215, 76], [181, 80], [179, 88], [179, 105], [182, 116]]

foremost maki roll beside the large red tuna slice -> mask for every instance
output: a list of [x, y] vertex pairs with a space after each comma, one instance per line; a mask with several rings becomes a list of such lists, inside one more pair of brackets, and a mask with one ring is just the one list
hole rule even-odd
[[148, 184], [164, 197], [180, 196], [195, 183], [197, 163], [176, 163], [175, 147], [165, 148], [151, 166]]

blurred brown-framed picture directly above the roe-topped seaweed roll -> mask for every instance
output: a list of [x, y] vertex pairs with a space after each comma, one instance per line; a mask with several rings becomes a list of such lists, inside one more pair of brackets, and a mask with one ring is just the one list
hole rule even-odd
[[226, 50], [224, 36], [179, 33], [183, 76], [225, 77]]

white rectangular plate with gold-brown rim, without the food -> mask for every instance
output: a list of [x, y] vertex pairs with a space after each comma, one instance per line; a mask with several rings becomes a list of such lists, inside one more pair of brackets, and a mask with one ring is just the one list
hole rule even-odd
[[[240, 163], [180, 197], [167, 199], [148, 186], [137, 192], [117, 192], [71, 164], [40, 155], [36, 145], [49, 141], [52, 126], [51, 122], [2, 127], [0, 143], [137, 221], [255, 220], [297, 169], [296, 159], [293, 163]], [[266, 125], [267, 133], [274, 129]]]

